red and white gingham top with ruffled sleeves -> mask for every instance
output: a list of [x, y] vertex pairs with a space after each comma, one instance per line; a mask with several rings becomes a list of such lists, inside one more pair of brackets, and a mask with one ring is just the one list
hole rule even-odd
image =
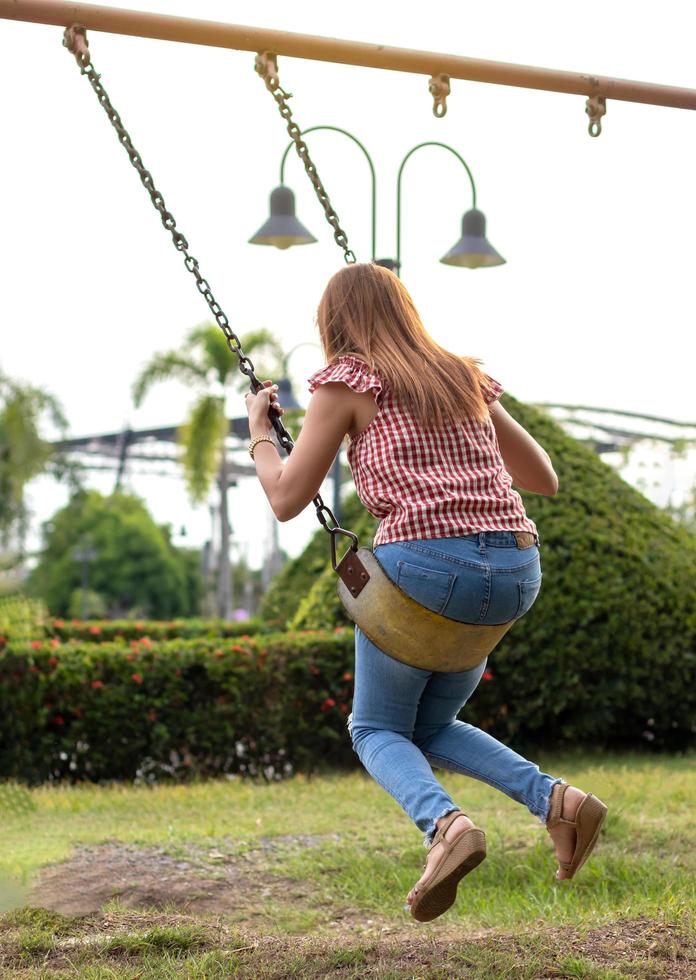
[[[491, 404], [503, 388], [484, 375]], [[372, 391], [380, 409], [348, 445], [355, 488], [380, 519], [374, 546], [389, 541], [449, 538], [476, 531], [531, 531], [520, 495], [500, 454], [490, 419], [466, 419], [445, 429], [426, 429], [396, 403], [387, 383], [358, 357], [344, 355], [309, 379], [342, 381], [353, 391]]]

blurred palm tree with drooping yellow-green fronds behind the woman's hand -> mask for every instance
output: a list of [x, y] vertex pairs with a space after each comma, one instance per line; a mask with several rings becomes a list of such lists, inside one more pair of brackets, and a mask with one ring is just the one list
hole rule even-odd
[[[260, 358], [256, 374], [260, 378], [278, 377], [282, 373], [283, 355], [278, 341], [267, 330], [256, 330], [240, 338], [244, 352]], [[220, 559], [217, 581], [218, 614], [232, 615], [227, 504], [229, 476], [226, 439], [229, 422], [225, 395], [229, 386], [242, 391], [248, 381], [240, 371], [223, 332], [213, 323], [195, 327], [178, 350], [154, 354], [133, 384], [136, 406], [161, 381], [180, 381], [196, 392], [196, 400], [187, 421], [179, 429], [181, 462], [189, 496], [194, 503], [205, 500], [217, 479], [220, 493]]]

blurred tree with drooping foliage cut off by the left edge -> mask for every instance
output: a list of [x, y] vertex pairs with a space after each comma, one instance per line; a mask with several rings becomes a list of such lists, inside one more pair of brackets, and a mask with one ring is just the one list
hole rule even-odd
[[27, 484], [44, 472], [57, 478], [72, 472], [43, 438], [47, 423], [61, 433], [67, 428], [57, 399], [0, 372], [0, 547], [15, 548], [20, 555], [29, 518]]

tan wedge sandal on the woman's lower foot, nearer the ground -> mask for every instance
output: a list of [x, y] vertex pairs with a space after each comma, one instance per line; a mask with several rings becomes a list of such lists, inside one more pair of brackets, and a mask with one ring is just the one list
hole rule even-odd
[[478, 827], [469, 827], [456, 840], [445, 840], [446, 830], [461, 816], [466, 816], [461, 810], [448, 814], [433, 837], [429, 850], [442, 844], [444, 854], [425, 884], [414, 889], [411, 915], [418, 922], [430, 922], [446, 912], [454, 904], [459, 882], [486, 856], [486, 835]]

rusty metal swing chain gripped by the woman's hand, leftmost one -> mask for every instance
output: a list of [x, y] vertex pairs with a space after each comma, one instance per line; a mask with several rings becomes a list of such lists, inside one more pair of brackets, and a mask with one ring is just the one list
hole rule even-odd
[[[106, 93], [106, 89], [100, 81], [101, 76], [97, 74], [94, 66], [92, 65], [89, 54], [89, 42], [87, 40], [86, 28], [82, 24], [74, 24], [72, 27], [66, 28], [63, 35], [63, 44], [72, 54], [75, 55], [75, 60], [80, 66], [81, 74], [86, 75], [89, 79], [89, 83], [94, 89], [102, 109], [107, 114], [109, 122], [116, 130], [119, 143], [125, 147], [130, 162], [137, 171], [143, 187], [150, 195], [150, 200], [152, 201], [156, 211], [159, 213], [162, 224], [171, 234], [174, 247], [184, 256], [184, 265], [195, 278], [198, 292], [208, 304], [208, 308], [213, 314], [215, 322], [224, 333], [225, 339], [227, 340], [227, 346], [229, 347], [230, 351], [238, 358], [239, 370], [249, 379], [251, 390], [253, 392], [259, 391], [261, 388], [263, 388], [263, 385], [254, 374], [254, 365], [251, 359], [247, 357], [242, 350], [239, 337], [230, 326], [230, 322], [224, 310], [215, 299], [208, 280], [201, 275], [198, 267], [198, 259], [194, 258], [189, 252], [188, 241], [186, 240], [184, 234], [176, 227], [174, 215], [167, 209], [167, 206], [164, 203], [164, 197], [155, 187], [152, 174], [145, 168], [140, 154], [133, 146], [133, 142], [123, 123], [121, 122], [121, 117], [111, 104], [111, 100]], [[346, 259], [346, 261], [349, 260]], [[352, 261], [355, 261], [354, 257]], [[275, 430], [278, 442], [289, 455], [293, 446], [295, 445], [292, 436], [279, 418], [271, 417], [270, 421]], [[323, 528], [329, 531], [329, 533], [331, 533], [333, 529], [338, 528], [336, 518], [334, 517], [330, 508], [327, 507], [324, 501], [321, 499], [319, 494], [317, 494], [317, 496], [313, 499], [312, 503], [316, 507], [317, 520]]]

